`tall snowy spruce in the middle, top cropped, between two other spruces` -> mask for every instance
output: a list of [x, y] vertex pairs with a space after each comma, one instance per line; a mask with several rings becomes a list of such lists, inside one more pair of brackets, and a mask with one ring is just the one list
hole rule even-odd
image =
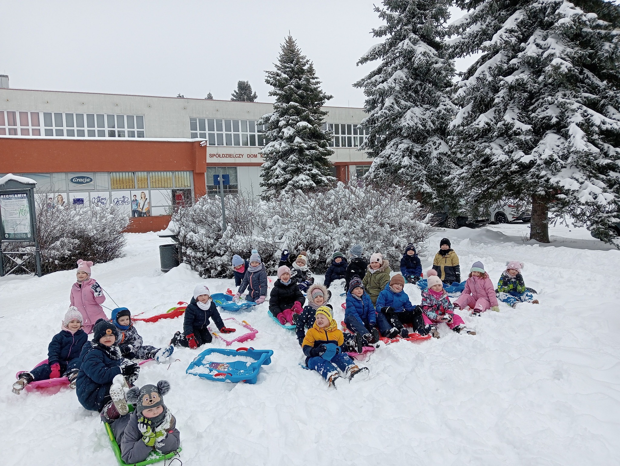
[[366, 95], [362, 121], [370, 137], [361, 149], [374, 157], [366, 179], [402, 186], [425, 203], [445, 197], [453, 170], [446, 144], [456, 114], [449, 99], [454, 65], [446, 59], [446, 20], [451, 0], [384, 0], [375, 7], [386, 25], [373, 29], [386, 39], [358, 64], [379, 66], [354, 84]]

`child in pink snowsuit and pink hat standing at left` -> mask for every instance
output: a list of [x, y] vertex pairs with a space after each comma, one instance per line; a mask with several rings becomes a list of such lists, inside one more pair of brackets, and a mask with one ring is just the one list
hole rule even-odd
[[84, 317], [82, 329], [87, 334], [92, 334], [92, 328], [98, 319], [108, 318], [105, 316], [101, 303], [105, 301], [104, 291], [94, 278], [91, 278], [91, 261], [78, 260], [78, 281], [71, 287], [71, 306], [76, 306]]

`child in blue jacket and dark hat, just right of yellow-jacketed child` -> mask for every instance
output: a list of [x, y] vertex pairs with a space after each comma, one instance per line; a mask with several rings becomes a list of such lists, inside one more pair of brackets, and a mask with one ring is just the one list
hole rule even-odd
[[345, 324], [355, 334], [358, 353], [361, 353], [361, 347], [379, 341], [373, 301], [358, 277], [352, 278], [349, 285]]

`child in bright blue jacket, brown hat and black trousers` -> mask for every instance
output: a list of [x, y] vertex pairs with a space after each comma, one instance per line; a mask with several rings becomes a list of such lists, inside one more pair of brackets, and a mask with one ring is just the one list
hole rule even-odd
[[413, 331], [426, 335], [422, 309], [409, 301], [409, 296], [403, 291], [405, 278], [394, 275], [377, 298], [377, 324], [381, 335], [394, 338], [401, 335], [409, 337], [409, 330], [403, 324], [411, 324]]

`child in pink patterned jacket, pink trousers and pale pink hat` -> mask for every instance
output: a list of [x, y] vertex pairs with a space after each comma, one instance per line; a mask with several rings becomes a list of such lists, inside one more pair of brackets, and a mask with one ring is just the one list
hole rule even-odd
[[422, 319], [426, 325], [427, 334], [439, 338], [437, 325], [444, 322], [449, 329], [454, 332], [466, 332], [469, 335], [476, 335], [475, 330], [467, 329], [463, 319], [458, 314], [454, 314], [454, 308], [448, 297], [448, 293], [443, 289], [443, 282], [432, 270], [427, 272], [428, 288], [422, 291]]

